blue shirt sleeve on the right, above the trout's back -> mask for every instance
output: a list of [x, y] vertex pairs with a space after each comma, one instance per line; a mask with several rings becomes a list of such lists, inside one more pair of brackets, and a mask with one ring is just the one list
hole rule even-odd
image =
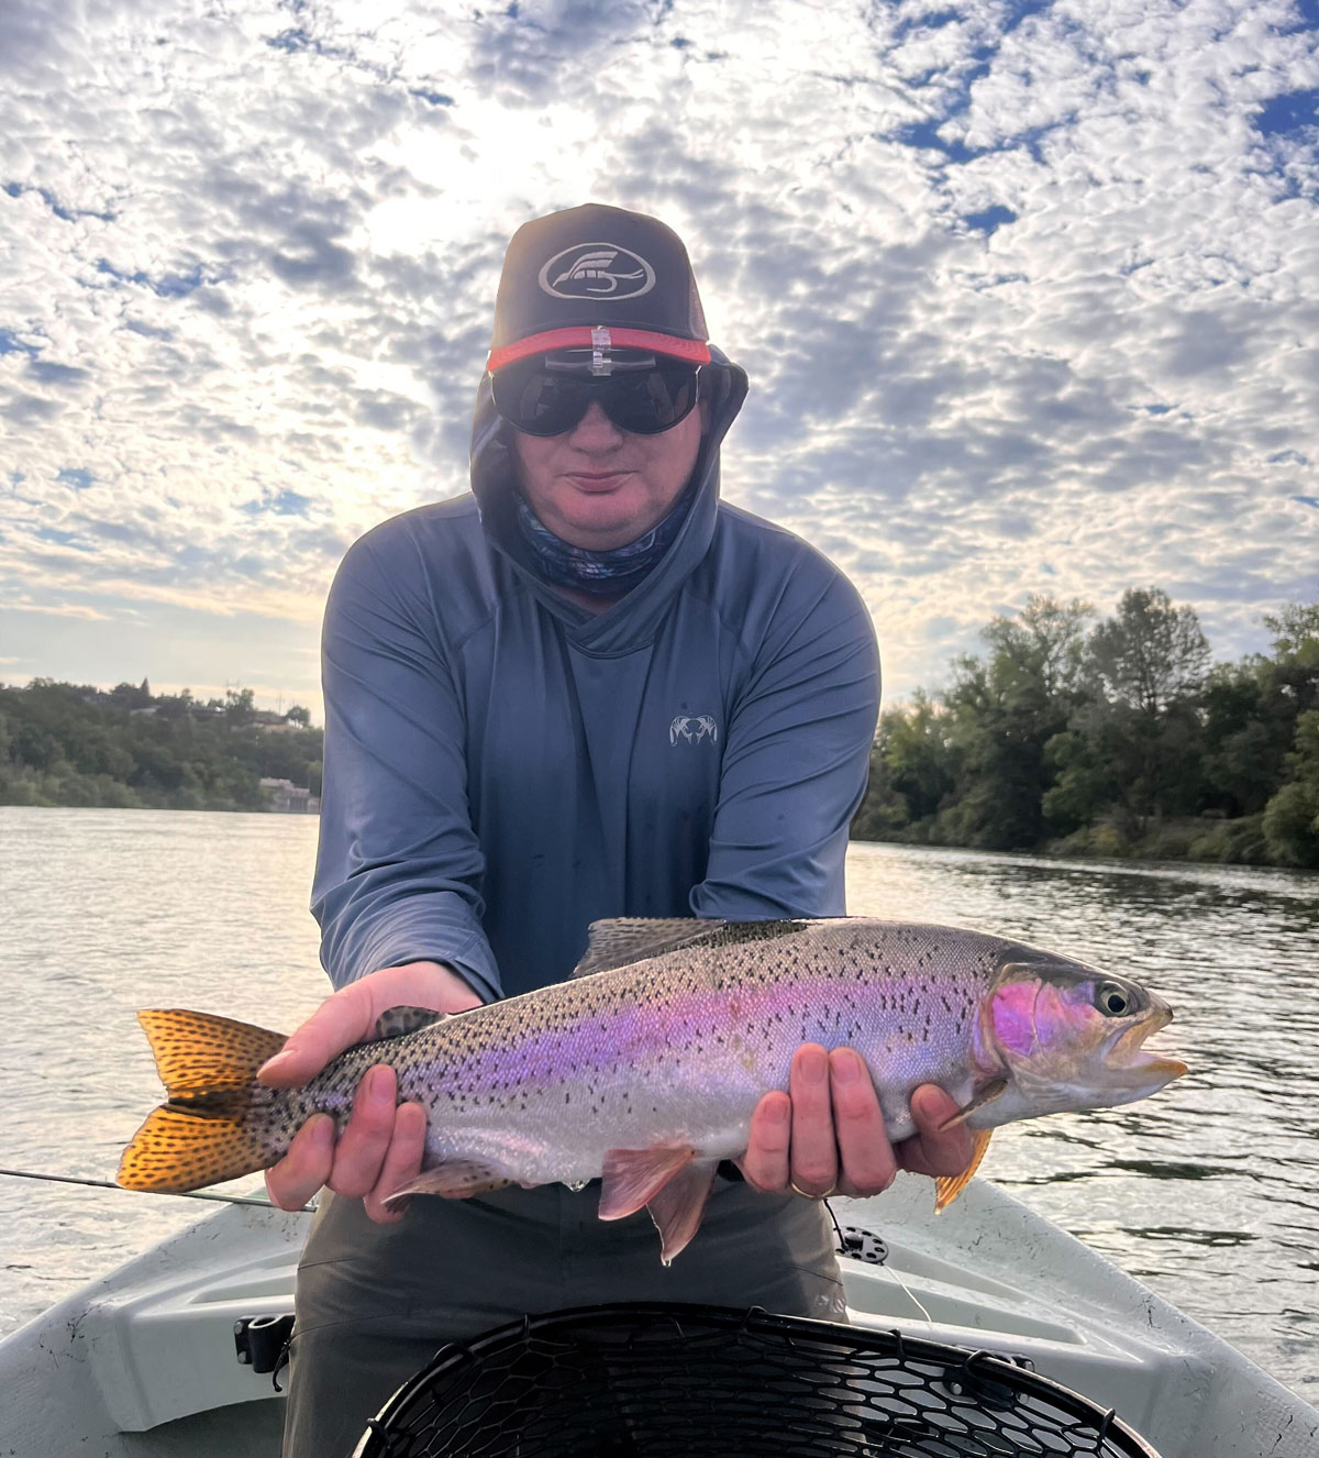
[[719, 803], [694, 914], [841, 916], [847, 831], [866, 789], [879, 652], [832, 567], [780, 601], [732, 707]]

